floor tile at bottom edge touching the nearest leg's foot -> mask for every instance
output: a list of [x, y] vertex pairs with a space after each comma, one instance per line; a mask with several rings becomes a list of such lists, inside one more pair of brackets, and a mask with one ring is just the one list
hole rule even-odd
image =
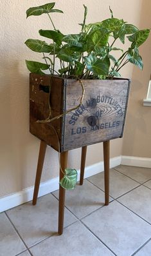
[[76, 222], [30, 249], [33, 256], [114, 256], [84, 225]]

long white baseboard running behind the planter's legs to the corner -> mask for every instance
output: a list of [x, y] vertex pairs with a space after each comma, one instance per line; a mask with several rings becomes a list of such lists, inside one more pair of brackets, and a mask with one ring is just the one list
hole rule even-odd
[[[110, 159], [110, 167], [116, 167], [121, 164], [121, 156], [113, 157]], [[103, 161], [97, 162], [91, 166], [85, 167], [85, 175], [84, 178], [93, 176], [97, 173], [103, 172]], [[78, 181], [80, 177], [80, 170], [78, 170]], [[4, 212], [13, 208], [15, 206], [19, 206], [20, 204], [24, 204], [24, 202], [31, 201], [33, 197], [33, 186], [31, 188], [26, 188], [17, 193], [13, 193], [12, 195], [7, 195], [6, 197], [0, 198], [0, 212]], [[46, 182], [42, 182], [39, 188], [39, 197], [42, 195], [46, 195], [48, 193], [54, 192], [58, 190], [58, 177], [55, 179], [51, 179]]]

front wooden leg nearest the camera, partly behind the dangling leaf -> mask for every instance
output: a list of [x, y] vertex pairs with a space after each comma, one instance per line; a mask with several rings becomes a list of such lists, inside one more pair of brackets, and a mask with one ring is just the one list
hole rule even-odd
[[[60, 164], [62, 170], [67, 167], [67, 151], [60, 153]], [[60, 170], [60, 180], [64, 176], [64, 173]], [[59, 202], [58, 202], [58, 234], [62, 235], [64, 229], [64, 202], [65, 202], [66, 190], [59, 185]]]

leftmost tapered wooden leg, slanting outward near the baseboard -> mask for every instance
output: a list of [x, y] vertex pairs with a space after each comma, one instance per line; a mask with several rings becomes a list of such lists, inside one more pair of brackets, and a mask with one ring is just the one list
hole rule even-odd
[[44, 141], [40, 142], [40, 150], [39, 150], [39, 160], [37, 164], [37, 173], [35, 177], [35, 188], [33, 192], [33, 205], [37, 203], [37, 197], [39, 193], [39, 184], [40, 184], [40, 179], [41, 179], [41, 173], [42, 173], [42, 167], [44, 164], [44, 156], [46, 153], [46, 147], [47, 144]]

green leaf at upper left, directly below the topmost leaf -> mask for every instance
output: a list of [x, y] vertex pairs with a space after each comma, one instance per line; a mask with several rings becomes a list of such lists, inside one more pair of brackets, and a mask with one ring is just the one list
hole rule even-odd
[[54, 31], [54, 30], [42, 30], [41, 29], [41, 30], [39, 30], [39, 34], [42, 35], [43, 37], [53, 39], [53, 41], [55, 43], [57, 43], [58, 46], [61, 45], [62, 38], [64, 37], [64, 35], [58, 30]]

